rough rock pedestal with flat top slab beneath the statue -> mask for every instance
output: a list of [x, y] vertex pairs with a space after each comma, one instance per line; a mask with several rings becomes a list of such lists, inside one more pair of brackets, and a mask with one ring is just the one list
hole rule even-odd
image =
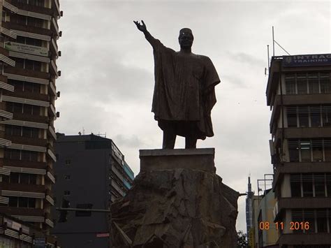
[[140, 173], [112, 204], [114, 247], [236, 247], [239, 193], [214, 149], [140, 150]]

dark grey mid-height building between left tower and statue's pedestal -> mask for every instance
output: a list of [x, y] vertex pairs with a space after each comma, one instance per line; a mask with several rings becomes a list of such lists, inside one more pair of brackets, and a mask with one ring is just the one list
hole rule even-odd
[[[55, 148], [58, 207], [65, 200], [66, 207], [108, 210], [131, 188], [133, 172], [112, 140], [58, 133]], [[68, 212], [66, 221], [57, 223], [52, 232], [63, 247], [108, 247], [109, 220], [105, 212]]]

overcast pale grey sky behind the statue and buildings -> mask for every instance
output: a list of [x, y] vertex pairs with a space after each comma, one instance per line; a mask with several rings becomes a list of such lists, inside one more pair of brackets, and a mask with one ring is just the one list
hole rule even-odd
[[[192, 52], [212, 59], [221, 78], [212, 110], [214, 134], [198, 147], [215, 147], [217, 174], [233, 189], [253, 189], [272, 173], [266, 105], [267, 45], [275, 40], [290, 54], [330, 53], [330, 1], [82, 1], [60, 0], [56, 102], [58, 132], [107, 133], [135, 175], [139, 149], [161, 148], [162, 133], [151, 112], [152, 47], [133, 20], [174, 50], [189, 27]], [[276, 55], [285, 54], [279, 47]], [[177, 148], [184, 138], [177, 138]], [[238, 200], [237, 230], [246, 231], [244, 196]]]

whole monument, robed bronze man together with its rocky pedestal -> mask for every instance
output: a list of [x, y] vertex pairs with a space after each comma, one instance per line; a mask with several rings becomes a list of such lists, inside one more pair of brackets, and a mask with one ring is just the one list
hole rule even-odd
[[[191, 29], [179, 32], [181, 51], [165, 48], [144, 22], [135, 22], [154, 48], [152, 111], [163, 149], [140, 150], [140, 173], [111, 206], [113, 247], [237, 247], [239, 193], [216, 175], [214, 148], [196, 149], [213, 136], [210, 113], [219, 83], [212, 61], [191, 53]], [[186, 149], [173, 149], [176, 136]]]

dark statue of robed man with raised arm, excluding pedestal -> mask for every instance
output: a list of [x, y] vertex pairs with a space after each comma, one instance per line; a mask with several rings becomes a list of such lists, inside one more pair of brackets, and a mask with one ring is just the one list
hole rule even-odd
[[149, 34], [141, 22], [135, 24], [154, 50], [152, 112], [163, 130], [163, 149], [173, 149], [177, 135], [185, 137], [185, 148], [196, 148], [198, 139], [214, 136], [210, 113], [219, 75], [209, 57], [191, 52], [191, 29], [179, 31], [180, 51], [175, 52]]

